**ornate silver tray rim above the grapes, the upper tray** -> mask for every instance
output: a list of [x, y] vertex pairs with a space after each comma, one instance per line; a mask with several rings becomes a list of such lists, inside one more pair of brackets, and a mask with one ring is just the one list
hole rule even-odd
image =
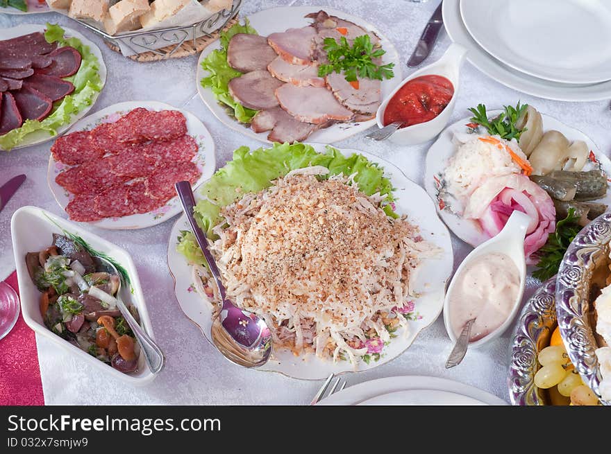
[[[611, 213], [604, 213], [575, 237], [558, 271], [556, 315], [569, 358], [594, 393], [601, 398], [601, 372], [594, 351], [598, 348], [590, 324], [590, 293], [594, 270], [608, 262]], [[611, 405], [610, 401], [601, 402]]]

